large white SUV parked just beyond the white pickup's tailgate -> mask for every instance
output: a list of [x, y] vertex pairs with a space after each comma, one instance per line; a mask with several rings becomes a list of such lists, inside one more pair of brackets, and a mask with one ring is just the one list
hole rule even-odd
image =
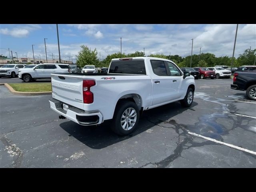
[[24, 82], [30, 82], [34, 79], [51, 78], [52, 73], [70, 73], [68, 64], [43, 63], [19, 73], [19, 78]]

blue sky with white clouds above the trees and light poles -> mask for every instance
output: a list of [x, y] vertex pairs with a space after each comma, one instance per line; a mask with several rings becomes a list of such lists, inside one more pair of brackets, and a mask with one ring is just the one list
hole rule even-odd
[[[96, 48], [105, 58], [108, 54], [120, 51], [131, 53], [143, 51], [146, 56], [153, 53], [180, 56], [210, 52], [216, 56], [232, 56], [236, 24], [59, 24], [60, 54], [62, 59], [75, 56], [84, 44]], [[44, 38], [47, 56], [52, 53], [58, 58], [56, 24], [0, 24], [0, 48], [18, 53], [18, 57], [41, 55], [45, 58]], [[256, 25], [239, 24], [235, 57], [247, 48], [256, 47]], [[0, 54], [8, 56], [7, 50]], [[16, 56], [16, 54], [14, 54]], [[99, 54], [98, 54], [99, 56]]]

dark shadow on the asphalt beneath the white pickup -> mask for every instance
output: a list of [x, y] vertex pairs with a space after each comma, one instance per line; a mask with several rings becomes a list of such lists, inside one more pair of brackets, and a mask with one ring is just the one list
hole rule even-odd
[[198, 105], [198, 103], [193, 102], [190, 108], [184, 108], [180, 105], [180, 102], [174, 102], [151, 110], [146, 110], [140, 117], [138, 128], [129, 136], [118, 136], [112, 132], [110, 129], [111, 121], [106, 121], [99, 126], [87, 127], [68, 121], [61, 123], [60, 127], [68, 132], [68, 136], [76, 138], [88, 147], [101, 149], [136, 136], [152, 128], [156, 124], [167, 121], [173, 116], [181, 114], [186, 110], [194, 110], [192, 108], [196, 105]]

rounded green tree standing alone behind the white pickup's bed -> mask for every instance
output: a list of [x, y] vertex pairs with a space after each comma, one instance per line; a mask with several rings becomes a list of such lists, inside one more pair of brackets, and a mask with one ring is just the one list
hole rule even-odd
[[85, 65], [95, 65], [99, 67], [99, 60], [97, 58], [97, 50], [91, 50], [85, 45], [81, 45], [82, 50], [78, 52], [76, 64], [83, 68]]

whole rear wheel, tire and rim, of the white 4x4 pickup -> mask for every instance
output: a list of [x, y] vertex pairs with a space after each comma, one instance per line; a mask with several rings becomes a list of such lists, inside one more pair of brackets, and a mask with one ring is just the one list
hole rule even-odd
[[136, 129], [140, 118], [138, 106], [131, 101], [120, 101], [116, 106], [111, 129], [120, 136], [130, 134]]

